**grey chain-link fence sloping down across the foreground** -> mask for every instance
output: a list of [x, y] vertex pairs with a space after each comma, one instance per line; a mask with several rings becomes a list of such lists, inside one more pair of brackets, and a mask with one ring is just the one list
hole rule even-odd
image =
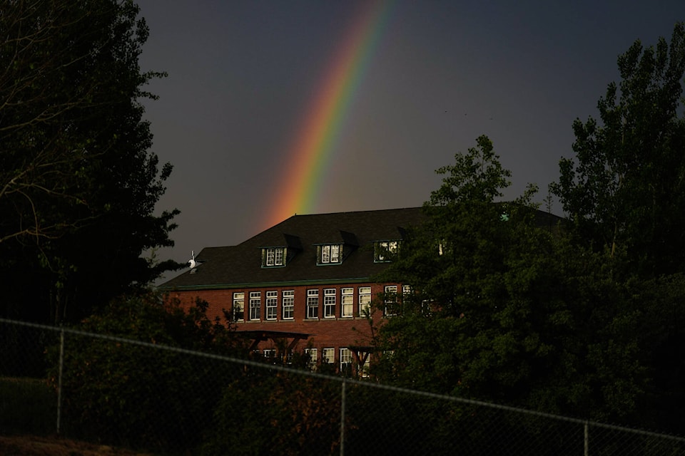
[[0, 319], [0, 434], [161, 455], [685, 455], [685, 439]]

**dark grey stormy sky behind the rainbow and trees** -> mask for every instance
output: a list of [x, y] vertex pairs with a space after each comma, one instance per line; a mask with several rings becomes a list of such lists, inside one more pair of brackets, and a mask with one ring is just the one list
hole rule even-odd
[[[174, 172], [158, 209], [181, 209], [163, 258], [267, 228], [293, 139], [365, 2], [139, 0], [153, 152]], [[414, 207], [435, 170], [482, 134], [538, 201], [572, 155], [572, 122], [597, 116], [617, 56], [670, 38], [685, 1], [430, 1], [387, 6], [312, 212]], [[287, 185], [287, 184], [286, 184]], [[559, 209], [556, 210], [559, 212]]]

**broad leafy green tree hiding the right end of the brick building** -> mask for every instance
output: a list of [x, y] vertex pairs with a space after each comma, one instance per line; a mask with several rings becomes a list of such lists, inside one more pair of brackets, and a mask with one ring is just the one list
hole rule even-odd
[[534, 186], [497, 202], [509, 172], [487, 138], [477, 144], [437, 171], [447, 176], [425, 204], [429, 222], [378, 278], [411, 291], [377, 330], [377, 351], [391, 355], [372, 373], [436, 393], [644, 422], [648, 360], [631, 337], [639, 314], [613, 275], [618, 255], [579, 247], [562, 225], [542, 221]]

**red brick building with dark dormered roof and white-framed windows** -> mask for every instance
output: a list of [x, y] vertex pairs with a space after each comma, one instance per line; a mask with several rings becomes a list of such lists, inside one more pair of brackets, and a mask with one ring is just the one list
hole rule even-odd
[[[198, 265], [160, 288], [191, 304], [207, 301], [210, 317], [229, 311], [237, 331], [265, 356], [307, 351], [316, 363], [369, 362], [365, 311], [377, 294], [402, 292], [377, 284], [420, 207], [294, 215], [235, 246], [206, 247]], [[375, 324], [382, 311], [372, 315]]]

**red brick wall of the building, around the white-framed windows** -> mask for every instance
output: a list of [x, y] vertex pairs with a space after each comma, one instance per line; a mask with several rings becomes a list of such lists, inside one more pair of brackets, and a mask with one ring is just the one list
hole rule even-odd
[[[366, 318], [359, 316], [359, 288], [361, 286], [371, 287], [371, 296], [375, 301], [376, 295], [384, 291], [382, 284], [336, 284], [336, 285], [318, 285], [318, 286], [280, 286], [280, 287], [261, 287], [261, 288], [244, 288], [244, 289], [223, 289], [223, 290], [198, 290], [198, 291], [173, 291], [170, 296], [181, 300], [184, 306], [191, 306], [195, 303], [196, 298], [201, 298], [209, 303], [207, 311], [209, 318], [218, 316], [223, 320], [223, 309], [230, 311], [233, 307], [233, 294], [236, 292], [245, 293], [244, 301], [244, 321], [237, 324], [237, 331], [285, 331], [296, 333], [307, 333], [310, 337], [306, 341], [298, 342], [295, 346], [295, 351], [301, 352], [304, 348], [310, 346], [317, 348], [317, 355], [319, 361], [323, 356], [323, 348], [335, 348], [335, 363], [339, 363], [340, 348], [347, 346], [365, 346], [369, 345], [371, 331], [370, 325]], [[342, 309], [342, 288], [354, 289], [353, 299], [353, 316], [341, 317], [340, 311]], [[318, 319], [310, 320], [305, 318], [307, 316], [307, 291], [310, 289], [318, 289], [319, 296], [319, 311]], [[324, 289], [335, 289], [335, 318], [324, 318]], [[283, 294], [282, 291], [295, 292], [295, 305], [293, 312], [293, 319], [284, 320], [283, 313]], [[261, 319], [259, 321], [249, 321], [248, 312], [250, 306], [250, 291], [261, 292]], [[275, 320], [265, 320], [266, 310], [266, 292], [278, 291], [277, 318]], [[382, 313], [376, 311], [373, 314], [374, 325], [382, 323]], [[258, 346], [260, 351], [267, 348], [275, 348], [273, 342], [261, 342]]]

